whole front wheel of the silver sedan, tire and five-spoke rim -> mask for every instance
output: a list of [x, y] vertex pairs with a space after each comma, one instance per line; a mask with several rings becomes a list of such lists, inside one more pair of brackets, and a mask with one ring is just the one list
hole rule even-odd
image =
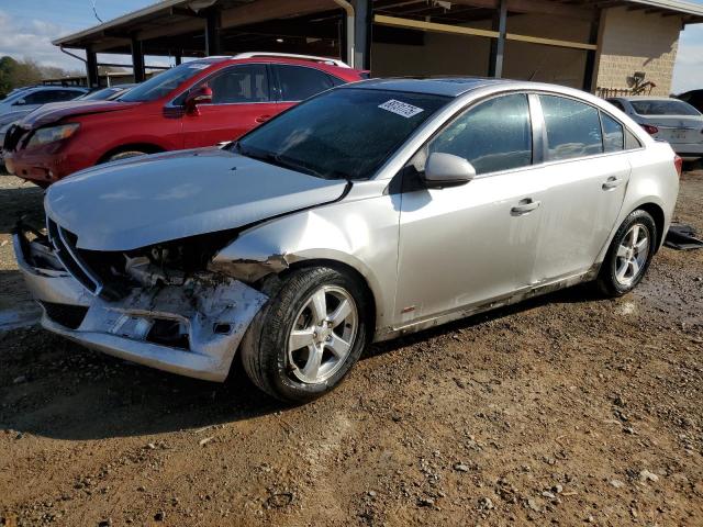
[[242, 341], [254, 384], [288, 402], [306, 402], [338, 385], [366, 343], [366, 296], [355, 277], [326, 267], [288, 276]]

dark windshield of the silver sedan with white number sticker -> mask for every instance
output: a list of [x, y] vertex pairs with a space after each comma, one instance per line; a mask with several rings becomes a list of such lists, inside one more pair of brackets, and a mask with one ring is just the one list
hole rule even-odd
[[325, 179], [368, 179], [449, 98], [342, 88], [234, 144], [244, 156]]

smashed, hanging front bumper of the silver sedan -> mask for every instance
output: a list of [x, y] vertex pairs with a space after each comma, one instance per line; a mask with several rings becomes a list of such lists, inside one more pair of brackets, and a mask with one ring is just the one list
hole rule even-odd
[[160, 370], [222, 382], [267, 296], [232, 278], [135, 288], [108, 301], [88, 292], [42, 238], [19, 228], [14, 253], [44, 311], [42, 326], [86, 347]]

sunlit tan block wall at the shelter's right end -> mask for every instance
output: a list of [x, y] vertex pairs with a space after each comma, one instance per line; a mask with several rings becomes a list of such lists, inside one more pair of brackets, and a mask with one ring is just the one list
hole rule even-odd
[[627, 77], [645, 71], [645, 80], [657, 85], [651, 93], [668, 96], [680, 30], [679, 16], [627, 11], [627, 8], [603, 10], [595, 87], [627, 88]]

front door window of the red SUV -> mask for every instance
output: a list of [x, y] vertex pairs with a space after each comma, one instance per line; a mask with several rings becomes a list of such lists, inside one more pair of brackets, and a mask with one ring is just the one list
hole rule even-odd
[[268, 75], [263, 64], [234, 66], [208, 79], [213, 104], [269, 101]]

